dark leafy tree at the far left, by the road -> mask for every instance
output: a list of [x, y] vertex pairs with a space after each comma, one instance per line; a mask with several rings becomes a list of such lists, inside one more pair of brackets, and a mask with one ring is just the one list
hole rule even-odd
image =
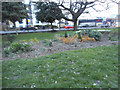
[[[22, 19], [28, 18], [25, 4], [22, 2], [3, 2], [2, 3], [2, 22], [10, 20], [13, 22], [16, 29], [15, 22], [21, 22]], [[17, 29], [16, 29], [17, 33]]]

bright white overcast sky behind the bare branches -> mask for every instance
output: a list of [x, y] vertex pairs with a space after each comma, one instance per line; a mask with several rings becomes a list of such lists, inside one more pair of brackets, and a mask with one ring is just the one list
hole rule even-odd
[[[37, 0], [33, 0], [33, 1], [37, 1]], [[54, 0], [53, 0], [54, 1]], [[57, 0], [55, 0], [57, 1]], [[61, 0], [62, 1], [62, 0]], [[67, 0], [68, 1], [68, 0]], [[73, 0], [72, 0], [73, 1]], [[88, 0], [89, 1], [89, 0]], [[109, 2], [110, 0], [107, 0], [107, 2]], [[119, 0], [117, 0], [118, 2]], [[29, 0], [25, 0], [25, 3], [29, 3]], [[89, 14], [82, 14], [79, 18], [96, 18], [96, 17], [110, 17], [110, 18], [115, 18], [116, 15], [118, 14], [118, 5], [115, 3], [110, 3], [109, 4], [110, 8], [108, 10], [104, 10], [102, 12], [96, 12], [93, 9], [89, 9], [88, 11], [90, 12]], [[100, 6], [96, 6], [95, 8], [97, 9], [101, 9], [102, 7]]]

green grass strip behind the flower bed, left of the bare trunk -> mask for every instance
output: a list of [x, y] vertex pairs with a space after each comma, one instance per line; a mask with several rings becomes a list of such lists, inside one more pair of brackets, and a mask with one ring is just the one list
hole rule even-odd
[[[68, 31], [68, 33], [73, 33], [75, 31]], [[44, 40], [44, 39], [54, 39], [56, 34], [64, 34], [65, 31], [59, 31], [59, 32], [40, 32], [40, 33], [27, 33], [27, 34], [19, 34], [15, 37], [14, 42], [19, 42], [20, 40], [26, 40], [29, 41], [30, 39], [38, 39], [38, 40]], [[0, 40], [0, 47], [2, 46], [10, 46], [10, 42], [7, 39], [6, 35], [2, 35], [2, 40]]]

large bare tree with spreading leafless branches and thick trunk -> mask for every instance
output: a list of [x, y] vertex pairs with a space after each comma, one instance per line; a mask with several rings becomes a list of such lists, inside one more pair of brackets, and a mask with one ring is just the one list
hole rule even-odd
[[109, 3], [115, 2], [117, 3], [117, 0], [67, 0], [67, 3], [69, 3], [69, 7], [66, 6], [66, 0], [60, 0], [59, 6], [62, 7], [63, 10], [68, 11], [72, 18], [63, 17], [65, 20], [72, 21], [74, 23], [74, 30], [77, 30], [77, 20], [78, 17], [81, 16], [83, 13], [89, 13], [85, 12], [86, 9], [92, 8], [97, 12], [103, 11], [103, 10], [97, 10], [95, 8], [96, 5], [102, 6], [105, 10], [109, 8]]

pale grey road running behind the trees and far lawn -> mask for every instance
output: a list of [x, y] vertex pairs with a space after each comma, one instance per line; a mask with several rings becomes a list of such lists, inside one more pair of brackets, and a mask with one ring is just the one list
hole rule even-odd
[[[82, 27], [82, 28], [78, 28], [78, 29], [99, 29], [100, 27]], [[55, 29], [57, 31], [69, 31], [69, 30], [73, 30], [73, 28], [70, 29], [65, 29], [65, 28], [60, 28], [60, 29]], [[52, 31], [52, 29], [40, 29], [40, 30], [18, 30], [18, 33], [34, 33], [34, 32], [49, 32]], [[0, 31], [0, 34], [15, 34], [16, 31]]]

